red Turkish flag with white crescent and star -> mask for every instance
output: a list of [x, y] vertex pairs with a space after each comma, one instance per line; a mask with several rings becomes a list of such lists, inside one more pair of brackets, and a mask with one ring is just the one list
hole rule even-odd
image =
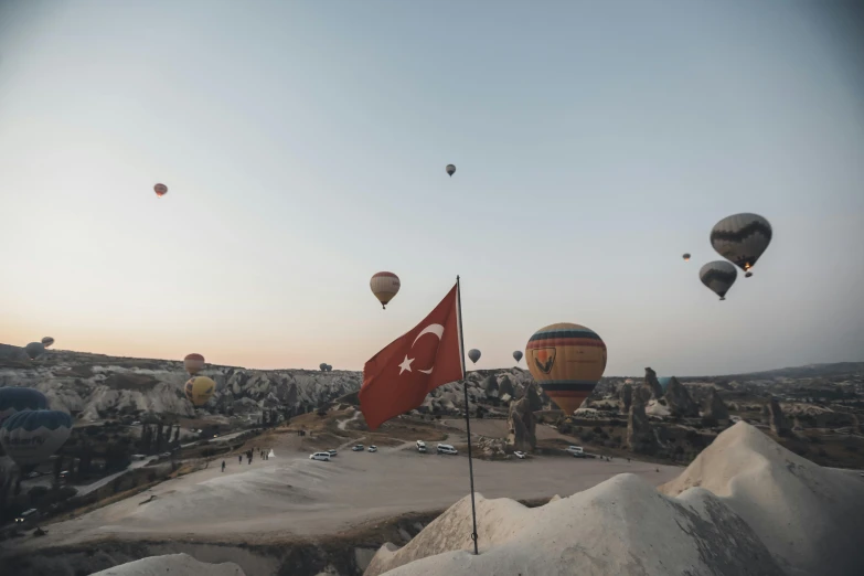
[[423, 404], [433, 390], [462, 378], [457, 287], [413, 330], [363, 366], [360, 410], [370, 430]]

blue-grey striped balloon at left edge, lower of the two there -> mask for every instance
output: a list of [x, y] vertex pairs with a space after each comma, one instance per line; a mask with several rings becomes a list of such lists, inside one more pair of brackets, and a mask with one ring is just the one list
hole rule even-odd
[[0, 444], [19, 466], [43, 462], [72, 434], [72, 416], [58, 410], [24, 410], [0, 427]]

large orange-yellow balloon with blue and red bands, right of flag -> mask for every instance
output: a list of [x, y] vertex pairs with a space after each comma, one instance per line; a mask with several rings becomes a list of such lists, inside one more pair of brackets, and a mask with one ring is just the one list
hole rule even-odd
[[562, 322], [534, 332], [525, 362], [543, 392], [570, 415], [602, 376], [606, 344], [594, 330]]

